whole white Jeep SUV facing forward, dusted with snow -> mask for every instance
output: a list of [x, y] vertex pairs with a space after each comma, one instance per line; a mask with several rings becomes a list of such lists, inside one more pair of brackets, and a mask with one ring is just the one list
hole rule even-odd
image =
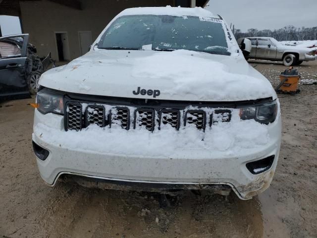
[[277, 96], [210, 11], [126, 9], [90, 52], [39, 84], [32, 138], [49, 185], [232, 189], [250, 199], [273, 178]]

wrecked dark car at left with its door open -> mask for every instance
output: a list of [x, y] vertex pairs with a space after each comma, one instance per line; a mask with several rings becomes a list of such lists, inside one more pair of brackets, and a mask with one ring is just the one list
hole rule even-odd
[[0, 102], [36, 94], [41, 74], [54, 62], [40, 58], [29, 34], [0, 37]]

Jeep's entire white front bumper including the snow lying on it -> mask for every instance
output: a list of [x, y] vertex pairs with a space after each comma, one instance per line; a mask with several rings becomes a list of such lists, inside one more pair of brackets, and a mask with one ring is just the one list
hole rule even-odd
[[[62, 116], [36, 110], [32, 139], [50, 152], [45, 161], [37, 158], [41, 177], [50, 185], [67, 173], [157, 183], [220, 183], [249, 199], [273, 178], [281, 119], [278, 115], [269, 125], [233, 119], [205, 133], [196, 128], [151, 133], [99, 127], [77, 132], [64, 131]], [[268, 171], [253, 175], [246, 168], [246, 163], [271, 155], [275, 159]]]

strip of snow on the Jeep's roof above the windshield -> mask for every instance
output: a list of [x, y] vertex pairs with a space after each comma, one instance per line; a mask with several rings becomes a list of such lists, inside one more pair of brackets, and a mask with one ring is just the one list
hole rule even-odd
[[211, 13], [211, 11], [205, 10], [202, 7], [135, 7], [127, 8], [119, 13], [118, 16], [123, 15], [171, 15], [171, 16], [202, 16], [219, 18], [218, 15]]

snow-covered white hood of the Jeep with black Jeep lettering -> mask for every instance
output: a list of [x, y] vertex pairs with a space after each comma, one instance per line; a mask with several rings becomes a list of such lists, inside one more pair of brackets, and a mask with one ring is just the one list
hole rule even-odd
[[242, 57], [187, 50], [91, 51], [47, 71], [39, 84], [124, 98], [212, 102], [276, 98], [269, 81]]

